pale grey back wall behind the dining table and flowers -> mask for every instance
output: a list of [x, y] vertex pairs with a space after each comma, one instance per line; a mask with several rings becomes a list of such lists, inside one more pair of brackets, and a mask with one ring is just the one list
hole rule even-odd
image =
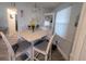
[[[17, 24], [19, 31], [27, 29], [27, 25], [32, 21], [33, 17], [38, 17], [38, 23], [41, 25], [44, 18], [44, 10], [34, 11], [33, 3], [16, 3], [17, 8]], [[21, 10], [23, 10], [23, 16], [21, 17]]]

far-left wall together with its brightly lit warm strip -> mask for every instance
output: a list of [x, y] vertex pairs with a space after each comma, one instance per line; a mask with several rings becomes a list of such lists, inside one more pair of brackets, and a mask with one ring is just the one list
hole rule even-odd
[[8, 28], [8, 33], [12, 35], [15, 33], [15, 17], [10, 17], [11, 11], [8, 9], [11, 9], [11, 3], [0, 2], [0, 27]]

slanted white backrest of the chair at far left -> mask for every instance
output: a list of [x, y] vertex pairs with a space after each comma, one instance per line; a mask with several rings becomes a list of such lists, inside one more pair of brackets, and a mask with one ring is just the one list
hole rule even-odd
[[3, 41], [5, 42], [5, 46], [7, 46], [7, 48], [8, 48], [9, 61], [15, 60], [14, 51], [13, 51], [13, 49], [12, 49], [10, 42], [8, 41], [7, 37], [5, 37], [4, 34], [1, 33], [1, 31], [0, 31], [0, 35], [1, 35]]

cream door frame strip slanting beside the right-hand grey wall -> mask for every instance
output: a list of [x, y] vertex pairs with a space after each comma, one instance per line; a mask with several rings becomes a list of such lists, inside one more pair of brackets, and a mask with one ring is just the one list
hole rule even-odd
[[86, 3], [83, 3], [72, 52], [70, 54], [71, 61], [79, 60], [81, 51], [82, 51], [83, 43], [84, 43], [84, 38], [86, 36], [85, 27], [86, 27]]

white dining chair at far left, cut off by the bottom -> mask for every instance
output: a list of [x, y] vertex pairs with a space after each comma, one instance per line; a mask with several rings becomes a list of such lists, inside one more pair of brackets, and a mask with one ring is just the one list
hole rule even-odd
[[[8, 48], [8, 53], [9, 53], [9, 61], [27, 61], [29, 60], [29, 52], [27, 48], [26, 50], [22, 50], [22, 48], [20, 48], [16, 53], [13, 51], [12, 46], [10, 44], [9, 40], [7, 39], [7, 37], [4, 36], [3, 33], [0, 33], [7, 48]], [[25, 60], [24, 60], [25, 59]]]

